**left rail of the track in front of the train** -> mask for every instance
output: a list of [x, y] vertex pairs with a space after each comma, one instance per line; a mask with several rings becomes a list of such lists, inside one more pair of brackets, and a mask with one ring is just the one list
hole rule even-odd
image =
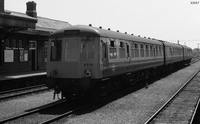
[[48, 108], [51, 108], [51, 107], [54, 107], [58, 104], [62, 104], [66, 102], [66, 100], [58, 100], [56, 102], [53, 102], [53, 103], [49, 103], [49, 104], [46, 104], [46, 105], [43, 105], [43, 106], [40, 106], [40, 107], [37, 107], [37, 108], [34, 108], [32, 109], [31, 111], [25, 111], [24, 113], [22, 114], [19, 114], [19, 115], [16, 115], [16, 116], [13, 116], [13, 117], [9, 117], [9, 118], [6, 118], [6, 119], [3, 119], [0, 121], [0, 124], [2, 123], [6, 123], [6, 122], [9, 122], [9, 121], [12, 121], [12, 120], [16, 120], [18, 118], [21, 118], [21, 117], [24, 117], [24, 116], [27, 116], [27, 115], [31, 115], [31, 114], [34, 114], [34, 113], [37, 113], [39, 111], [42, 111], [42, 110], [45, 110], [45, 109], [48, 109]]

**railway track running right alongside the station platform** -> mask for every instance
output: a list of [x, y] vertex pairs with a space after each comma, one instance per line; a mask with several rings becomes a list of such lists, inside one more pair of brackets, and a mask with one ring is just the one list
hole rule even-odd
[[0, 92], [0, 101], [30, 93], [49, 90], [45, 84]]

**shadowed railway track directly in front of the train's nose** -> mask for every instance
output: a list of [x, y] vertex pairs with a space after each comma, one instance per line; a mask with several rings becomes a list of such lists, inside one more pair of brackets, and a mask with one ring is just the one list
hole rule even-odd
[[86, 104], [82, 105], [77, 101], [67, 101], [63, 99], [1, 120], [0, 124], [49, 124], [61, 118], [69, 117], [86, 107], [88, 107]]

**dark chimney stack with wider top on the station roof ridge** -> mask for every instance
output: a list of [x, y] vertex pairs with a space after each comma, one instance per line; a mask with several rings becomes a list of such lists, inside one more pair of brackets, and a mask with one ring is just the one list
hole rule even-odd
[[34, 1], [26, 3], [26, 15], [37, 18], [36, 3]]

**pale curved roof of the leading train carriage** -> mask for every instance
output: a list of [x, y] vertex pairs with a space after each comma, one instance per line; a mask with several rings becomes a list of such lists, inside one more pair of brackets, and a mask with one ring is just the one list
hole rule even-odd
[[115, 32], [111, 30], [105, 30], [102, 28], [97, 28], [97, 27], [92, 27], [92, 26], [85, 26], [85, 25], [74, 25], [74, 26], [69, 26], [67, 28], [61, 29], [53, 33], [53, 35], [59, 35], [59, 34], [64, 34], [67, 31], [79, 31], [81, 33], [90, 33], [94, 34], [97, 36], [101, 37], [108, 37], [108, 38], [116, 38], [116, 39], [121, 39], [121, 40], [130, 40], [130, 41], [138, 41], [138, 42], [143, 42], [143, 43], [149, 43], [149, 44], [162, 44], [158, 40], [154, 39], [147, 39], [147, 38], [142, 38], [142, 37], [137, 37], [134, 35], [129, 35], [121, 32]]

